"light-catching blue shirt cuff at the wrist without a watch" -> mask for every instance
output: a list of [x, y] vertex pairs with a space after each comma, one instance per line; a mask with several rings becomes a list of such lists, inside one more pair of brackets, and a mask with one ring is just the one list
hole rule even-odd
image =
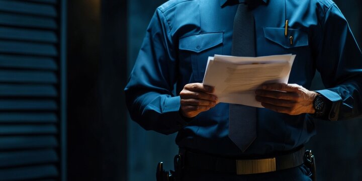
[[178, 117], [173, 118], [176, 119], [176, 122], [178, 123], [177, 126], [179, 127], [185, 127], [188, 125], [188, 123], [191, 121], [188, 118], [185, 118], [179, 113], [180, 109], [180, 100], [181, 98], [179, 96], [168, 98], [165, 102], [163, 111], [166, 112], [177, 112]]

